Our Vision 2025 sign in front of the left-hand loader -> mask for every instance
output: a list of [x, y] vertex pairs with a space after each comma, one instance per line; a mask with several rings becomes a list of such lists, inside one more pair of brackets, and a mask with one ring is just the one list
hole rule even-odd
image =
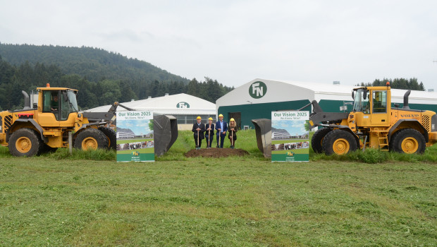
[[117, 162], [155, 161], [153, 112], [116, 112]]

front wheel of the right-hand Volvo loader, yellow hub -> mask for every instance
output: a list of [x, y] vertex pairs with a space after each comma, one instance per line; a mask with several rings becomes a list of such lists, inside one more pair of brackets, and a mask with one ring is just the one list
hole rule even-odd
[[322, 143], [326, 155], [345, 155], [357, 150], [357, 140], [354, 136], [341, 129], [327, 133]]

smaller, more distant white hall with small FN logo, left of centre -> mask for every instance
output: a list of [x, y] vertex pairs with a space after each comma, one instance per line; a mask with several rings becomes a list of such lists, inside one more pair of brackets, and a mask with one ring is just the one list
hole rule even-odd
[[[195, 123], [197, 116], [202, 117], [203, 123], [207, 123], [209, 117], [216, 121], [216, 104], [185, 93], [149, 97], [145, 100], [121, 102], [121, 104], [137, 111], [150, 110], [160, 114], [173, 115], [178, 119], [179, 130], [191, 130], [192, 123]], [[105, 105], [89, 109], [87, 112], [108, 112], [109, 108], [111, 105]], [[117, 111], [126, 111], [126, 109], [118, 107]]]

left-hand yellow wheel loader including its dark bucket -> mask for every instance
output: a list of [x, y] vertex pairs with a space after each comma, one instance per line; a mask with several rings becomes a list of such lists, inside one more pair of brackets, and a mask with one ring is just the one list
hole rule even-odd
[[[69, 133], [75, 148], [116, 149], [116, 132], [106, 126], [115, 123], [116, 109], [123, 105], [115, 102], [109, 112], [81, 113], [76, 101], [78, 90], [51, 88], [47, 83], [46, 88], [37, 88], [38, 103], [31, 107], [29, 95], [22, 92], [25, 97], [23, 109], [0, 112], [0, 144], [8, 147], [11, 155], [29, 157], [68, 147]], [[163, 155], [176, 140], [178, 126], [173, 116], [156, 117], [155, 138], [161, 135], [164, 138], [156, 142], [159, 145], [155, 150], [159, 152], [156, 155]]]

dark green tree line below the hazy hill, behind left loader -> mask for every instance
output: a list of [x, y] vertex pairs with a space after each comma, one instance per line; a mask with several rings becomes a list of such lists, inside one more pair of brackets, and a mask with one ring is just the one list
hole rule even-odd
[[129, 80], [108, 79], [88, 80], [86, 76], [66, 74], [56, 65], [45, 65], [37, 62], [34, 66], [25, 61], [18, 66], [4, 61], [0, 56], [0, 110], [22, 109], [24, 105], [21, 90], [32, 92], [38, 87], [73, 88], [79, 90], [78, 105], [82, 110], [99, 107], [113, 102], [128, 102], [142, 100], [149, 96], [160, 97], [166, 93], [175, 95], [187, 93], [210, 102], [225, 95], [233, 88], [223, 86], [217, 80], [205, 78], [204, 81], [192, 79], [190, 83], [184, 80]]

